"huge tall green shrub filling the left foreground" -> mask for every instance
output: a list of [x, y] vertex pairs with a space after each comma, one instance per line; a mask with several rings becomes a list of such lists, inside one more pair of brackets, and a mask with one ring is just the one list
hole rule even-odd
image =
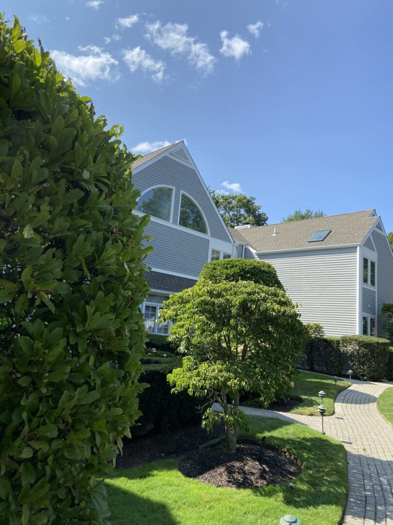
[[17, 20], [0, 78], [0, 522], [100, 524], [139, 415], [133, 156]]

